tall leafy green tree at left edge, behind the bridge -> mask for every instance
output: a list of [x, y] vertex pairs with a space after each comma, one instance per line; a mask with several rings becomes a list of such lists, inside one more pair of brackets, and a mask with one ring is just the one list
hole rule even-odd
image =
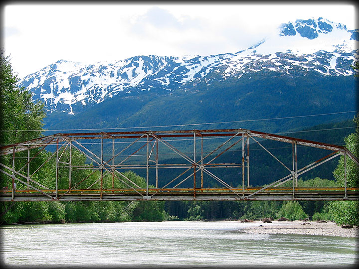
[[[4, 56], [3, 50], [0, 52], [0, 144], [9, 145], [21, 141], [39, 137], [42, 132], [42, 120], [45, 117], [44, 106], [41, 102], [32, 102], [31, 93], [23, 88], [18, 88], [16, 83], [18, 78], [13, 74], [8, 56]], [[26, 162], [27, 152], [18, 154], [16, 167], [22, 166]], [[26, 155], [27, 156], [27, 155]], [[8, 166], [11, 161], [10, 156], [2, 156], [1, 163]], [[0, 187], [11, 187], [11, 183], [5, 180], [4, 174], [0, 174]], [[29, 209], [30, 207], [30, 209]], [[45, 210], [43, 210], [45, 209]], [[43, 210], [43, 211], [42, 211]], [[25, 215], [31, 218], [43, 220], [48, 216], [47, 206], [43, 203], [2, 203], [0, 217], [1, 221], [7, 223], [16, 222], [23, 219]], [[31, 212], [29, 212], [31, 211]], [[5, 214], [5, 212], [7, 212]], [[43, 214], [40, 216], [37, 213]], [[30, 214], [31, 213], [31, 214]]]

